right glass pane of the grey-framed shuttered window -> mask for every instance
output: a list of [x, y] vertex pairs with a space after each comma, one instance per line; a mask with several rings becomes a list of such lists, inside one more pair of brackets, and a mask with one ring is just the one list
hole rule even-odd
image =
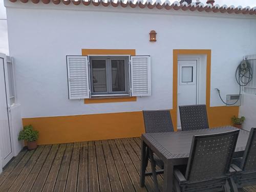
[[124, 60], [111, 60], [112, 91], [125, 91]]

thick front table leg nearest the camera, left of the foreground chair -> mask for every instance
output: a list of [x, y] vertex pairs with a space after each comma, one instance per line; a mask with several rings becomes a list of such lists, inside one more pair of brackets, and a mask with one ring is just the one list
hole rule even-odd
[[173, 175], [174, 166], [172, 162], [167, 161], [164, 163], [164, 173], [163, 173], [163, 191], [172, 192], [173, 190]]

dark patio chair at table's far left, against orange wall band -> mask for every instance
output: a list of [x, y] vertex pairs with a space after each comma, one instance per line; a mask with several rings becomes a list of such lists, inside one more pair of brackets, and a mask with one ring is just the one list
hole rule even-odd
[[[169, 110], [158, 110], [158, 111], [143, 111], [144, 125], [146, 133], [159, 133], [159, 132], [173, 132], [174, 126], [172, 122], [172, 117], [170, 116]], [[153, 175], [156, 190], [157, 179], [156, 174], [163, 173], [164, 163], [159, 157], [157, 157], [150, 148], [146, 148], [146, 159], [151, 160], [152, 173], [146, 173], [145, 175]], [[161, 170], [156, 170], [156, 165], [161, 168]], [[147, 166], [147, 163], [146, 163]]]

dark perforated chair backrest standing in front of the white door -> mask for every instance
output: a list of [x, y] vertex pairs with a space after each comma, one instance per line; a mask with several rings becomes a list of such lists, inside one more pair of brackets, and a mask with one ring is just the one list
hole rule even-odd
[[208, 119], [205, 104], [179, 106], [181, 130], [208, 129]]

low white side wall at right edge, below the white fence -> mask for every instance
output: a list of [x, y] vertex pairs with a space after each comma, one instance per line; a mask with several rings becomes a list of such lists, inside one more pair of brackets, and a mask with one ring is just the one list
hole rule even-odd
[[239, 116], [244, 116], [243, 129], [250, 131], [252, 127], [256, 127], [256, 95], [243, 94], [242, 105], [239, 108]]

